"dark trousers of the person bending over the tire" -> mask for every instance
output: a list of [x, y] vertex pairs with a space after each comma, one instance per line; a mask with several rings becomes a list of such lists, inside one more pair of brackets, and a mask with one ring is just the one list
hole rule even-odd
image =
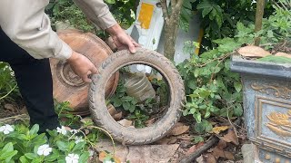
[[34, 59], [13, 43], [0, 28], [0, 61], [8, 62], [15, 72], [30, 124], [39, 124], [40, 132], [58, 127], [49, 60]]

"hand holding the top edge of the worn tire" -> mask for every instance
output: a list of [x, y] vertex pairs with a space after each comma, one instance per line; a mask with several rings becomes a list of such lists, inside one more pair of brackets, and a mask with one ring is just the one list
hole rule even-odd
[[118, 50], [128, 49], [129, 52], [135, 53], [135, 47], [140, 46], [138, 43], [135, 43], [135, 40], [131, 36], [125, 33], [119, 24], [107, 28], [106, 31], [111, 35]]

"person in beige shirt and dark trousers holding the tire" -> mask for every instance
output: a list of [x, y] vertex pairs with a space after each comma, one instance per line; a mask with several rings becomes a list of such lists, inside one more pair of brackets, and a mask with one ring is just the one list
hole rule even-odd
[[[117, 48], [135, 53], [138, 46], [125, 34], [102, 0], [74, 0], [94, 24], [108, 32]], [[39, 132], [60, 126], [55, 113], [53, 82], [48, 58], [66, 60], [84, 82], [96, 73], [95, 65], [74, 52], [51, 28], [45, 6], [49, 0], [0, 1], [0, 62], [8, 62], [15, 72], [19, 91]]]

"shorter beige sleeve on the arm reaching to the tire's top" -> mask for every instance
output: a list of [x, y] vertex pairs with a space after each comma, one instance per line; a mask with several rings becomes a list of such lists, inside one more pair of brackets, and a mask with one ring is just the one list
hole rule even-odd
[[117, 24], [103, 0], [74, 0], [74, 2], [87, 18], [100, 28], [105, 30]]

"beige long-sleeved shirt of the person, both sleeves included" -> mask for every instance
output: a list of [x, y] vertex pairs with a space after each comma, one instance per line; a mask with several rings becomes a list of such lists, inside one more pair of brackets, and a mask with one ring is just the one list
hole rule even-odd
[[[102, 0], [74, 0], [102, 29], [116, 24]], [[35, 59], [68, 59], [72, 49], [51, 28], [45, 6], [49, 0], [0, 0], [0, 26], [7, 36]]]

